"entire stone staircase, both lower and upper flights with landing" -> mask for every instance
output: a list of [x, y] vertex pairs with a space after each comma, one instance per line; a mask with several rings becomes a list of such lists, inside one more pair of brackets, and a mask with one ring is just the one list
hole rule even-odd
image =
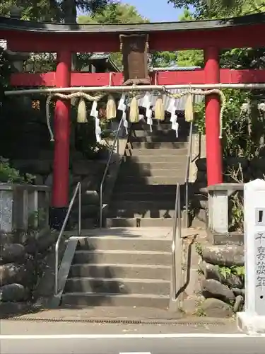
[[[83, 231], [62, 307], [170, 306], [176, 183], [184, 187], [188, 125], [135, 124], [119, 169], [107, 228]], [[182, 200], [184, 188], [182, 188]]]

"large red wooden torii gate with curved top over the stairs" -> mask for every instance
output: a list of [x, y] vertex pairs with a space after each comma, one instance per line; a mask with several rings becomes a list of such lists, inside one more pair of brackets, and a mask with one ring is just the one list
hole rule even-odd
[[[71, 72], [73, 52], [119, 52], [120, 34], [146, 34], [151, 51], [204, 50], [205, 67], [192, 72], [151, 74], [151, 84], [254, 84], [265, 82], [265, 70], [220, 69], [221, 49], [265, 46], [265, 14], [228, 20], [142, 23], [135, 25], [67, 25], [36, 23], [0, 17], [0, 38], [13, 52], [57, 52], [57, 70], [42, 74], [18, 73], [13, 86], [107, 86], [110, 74]], [[112, 74], [112, 86], [123, 76]], [[219, 139], [220, 101], [206, 96], [206, 157], [208, 185], [222, 183], [222, 153]], [[65, 208], [69, 195], [70, 105], [58, 100], [54, 115], [54, 181], [52, 206]]]

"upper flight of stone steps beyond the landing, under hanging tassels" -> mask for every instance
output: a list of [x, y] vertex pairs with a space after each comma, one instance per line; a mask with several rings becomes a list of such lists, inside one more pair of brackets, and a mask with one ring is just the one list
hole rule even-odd
[[179, 137], [171, 124], [131, 128], [124, 161], [112, 194], [107, 227], [172, 227], [176, 184], [183, 205], [189, 125], [179, 123]]

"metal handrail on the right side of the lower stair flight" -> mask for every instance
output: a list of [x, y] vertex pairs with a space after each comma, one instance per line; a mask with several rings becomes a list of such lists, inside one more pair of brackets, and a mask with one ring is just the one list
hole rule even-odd
[[[176, 277], [176, 244], [181, 240], [181, 210], [180, 210], [180, 185], [177, 183], [176, 200], [175, 200], [175, 219], [172, 232], [172, 301], [177, 299], [177, 282], [181, 284], [181, 277]], [[178, 242], [177, 242], [178, 241]], [[180, 286], [178, 286], [180, 289]]]

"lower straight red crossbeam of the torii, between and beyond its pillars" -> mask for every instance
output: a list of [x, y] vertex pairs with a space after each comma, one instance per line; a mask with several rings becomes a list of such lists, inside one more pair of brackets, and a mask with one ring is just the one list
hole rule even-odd
[[[151, 74], [155, 84], [155, 75]], [[204, 84], [204, 69], [186, 72], [158, 72], [158, 85]], [[71, 73], [71, 86], [108, 86], [110, 73]], [[220, 69], [220, 82], [223, 84], [255, 84], [265, 82], [265, 70]], [[12, 86], [55, 86], [55, 72], [43, 74], [16, 73], [11, 75]], [[122, 74], [112, 73], [112, 85], [122, 84]]]

